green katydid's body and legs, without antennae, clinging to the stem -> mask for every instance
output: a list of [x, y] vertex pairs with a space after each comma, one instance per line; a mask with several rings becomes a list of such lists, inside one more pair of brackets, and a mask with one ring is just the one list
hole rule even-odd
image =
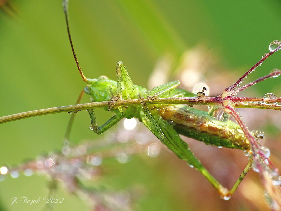
[[[180, 81], [162, 84], [148, 91], [146, 88], [134, 85], [122, 61], [117, 62], [117, 81], [105, 76], [98, 79], [86, 79], [85, 93], [92, 96], [93, 101], [109, 101], [108, 110], [115, 113], [112, 118], [102, 126], [97, 126], [94, 111], [89, 109], [92, 130], [101, 134], [115, 125], [122, 118], [138, 118], [143, 124], [180, 159], [185, 160], [189, 166], [196, 168], [216, 188], [224, 199], [229, 199], [236, 190], [251, 166], [251, 160], [238, 178], [233, 187], [228, 190], [223, 187], [194, 156], [189, 146], [180, 136], [194, 138], [208, 145], [250, 150], [250, 144], [245, 138], [241, 128], [231, 122], [221, 122], [209, 116], [206, 112], [184, 106], [169, 104], [145, 103], [145, 98], [153, 101], [155, 98], [166, 97], [194, 97], [194, 94], [176, 87]], [[117, 100], [138, 99], [137, 106], [116, 107]]]

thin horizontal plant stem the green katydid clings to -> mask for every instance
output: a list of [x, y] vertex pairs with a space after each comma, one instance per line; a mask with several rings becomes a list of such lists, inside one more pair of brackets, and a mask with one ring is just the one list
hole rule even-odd
[[[221, 106], [221, 102], [223, 100], [231, 100], [234, 102], [235, 108], [264, 108], [264, 109], [275, 109], [281, 110], [281, 98], [269, 99], [269, 98], [244, 98], [244, 97], [233, 97], [227, 96], [225, 98], [217, 97], [188, 97], [188, 98], [157, 98], [150, 102], [149, 100], [145, 100], [146, 104], [188, 104], [188, 105], [207, 105], [207, 106]], [[245, 105], [248, 102], [247, 105]], [[72, 112], [72, 111], [80, 111], [86, 109], [94, 109], [94, 108], [107, 108], [108, 102], [94, 102], [94, 103], [85, 103], [85, 104], [76, 104], [71, 106], [61, 106], [61, 107], [53, 107], [46, 109], [39, 109], [35, 111], [27, 111], [17, 114], [12, 114], [8, 116], [0, 117], [0, 124], [5, 122], [12, 122], [15, 120], [20, 120], [24, 118], [29, 118], [33, 116], [42, 116], [53, 113], [61, 113], [61, 112]], [[118, 100], [115, 102], [115, 106], [132, 106], [140, 104], [137, 99], [133, 100]]]

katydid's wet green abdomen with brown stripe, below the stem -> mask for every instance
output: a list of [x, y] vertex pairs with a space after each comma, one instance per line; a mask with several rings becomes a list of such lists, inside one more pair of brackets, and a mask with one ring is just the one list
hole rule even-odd
[[184, 105], [167, 105], [158, 111], [163, 119], [173, 121], [176, 131], [185, 136], [216, 146], [242, 150], [251, 148], [243, 131], [234, 122], [221, 122], [207, 112]]

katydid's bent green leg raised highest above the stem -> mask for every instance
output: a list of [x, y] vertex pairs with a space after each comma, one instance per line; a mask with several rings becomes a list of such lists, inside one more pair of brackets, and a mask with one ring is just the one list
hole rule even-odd
[[108, 103], [108, 111], [111, 111], [111, 107], [115, 105], [115, 102], [117, 100], [123, 99], [122, 92], [121, 92], [122, 83], [126, 87], [126, 96], [127, 96], [128, 100], [131, 99], [130, 95], [133, 92], [132, 79], [122, 61], [117, 62], [116, 75], [117, 75], [117, 90], [116, 90], [117, 94], [116, 94], [116, 96], [112, 96], [110, 102]]

